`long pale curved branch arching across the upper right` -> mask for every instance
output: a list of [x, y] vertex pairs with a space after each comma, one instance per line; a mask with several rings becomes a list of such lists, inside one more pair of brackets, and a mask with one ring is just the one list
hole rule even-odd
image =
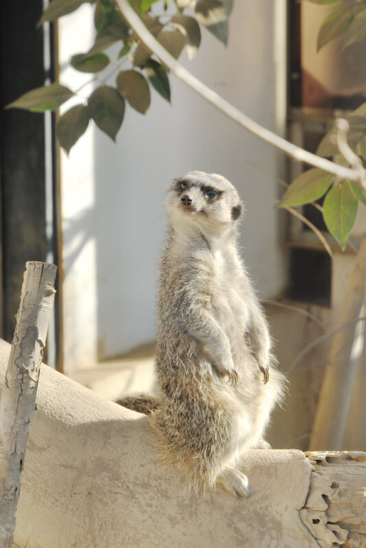
[[226, 114], [229, 118], [247, 129], [247, 131], [256, 135], [261, 140], [282, 150], [286, 155], [291, 156], [291, 158], [294, 158], [298, 162], [304, 162], [305, 164], [315, 166], [319, 169], [327, 171], [328, 173], [336, 175], [340, 179], [349, 179], [350, 181], [358, 181], [363, 184], [363, 173], [361, 173], [358, 169], [356, 170], [339, 166], [334, 162], [330, 162], [330, 160], [326, 160], [326, 158], [320, 158], [315, 154], [305, 151], [301, 147], [293, 145], [293, 143], [286, 141], [286, 139], [254, 122], [249, 118], [249, 116], [235, 108], [228, 101], [225, 101], [225, 99], [208, 88], [208, 86], [202, 84], [199, 79], [184, 69], [184, 66], [175, 60], [173, 56], [159, 44], [158, 40], [156, 40], [147, 30], [136, 12], [134, 12], [128, 3], [128, 0], [117, 0], [117, 5], [123, 17], [127, 23], [129, 23], [130, 27], [132, 27], [138, 38], [140, 38], [141, 42], [143, 42], [143, 44], [151, 50], [152, 53], [155, 53], [162, 64], [164, 64], [164, 66], [166, 66], [167, 69], [169, 69], [169, 71], [171, 71], [171, 73], [173, 73], [176, 77], [180, 78], [184, 84], [195, 90], [199, 95], [204, 97], [206, 101], [212, 103], [212, 105], [221, 110], [221, 112]]

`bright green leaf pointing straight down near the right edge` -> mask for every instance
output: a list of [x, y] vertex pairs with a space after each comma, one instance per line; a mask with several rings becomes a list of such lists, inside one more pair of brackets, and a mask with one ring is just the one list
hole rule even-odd
[[358, 209], [358, 199], [349, 181], [335, 185], [326, 195], [323, 204], [324, 221], [342, 250], [352, 230]]

